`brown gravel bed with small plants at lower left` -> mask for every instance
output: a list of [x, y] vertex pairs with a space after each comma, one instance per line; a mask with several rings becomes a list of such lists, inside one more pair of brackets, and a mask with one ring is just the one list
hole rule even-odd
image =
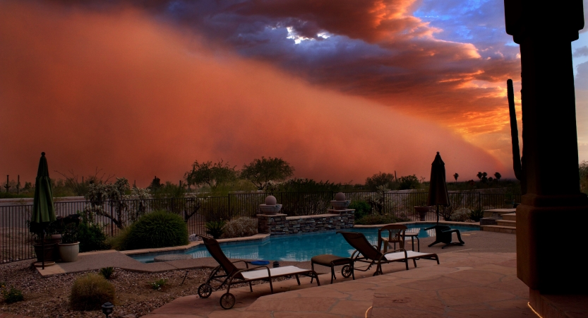
[[[92, 272], [92, 271], [89, 271]], [[79, 312], [69, 309], [68, 297], [71, 286], [82, 273], [67, 273], [43, 278], [31, 266], [31, 261], [17, 261], [0, 265], [0, 283], [14, 286], [23, 292], [25, 300], [13, 304], [0, 302], [0, 313], [23, 314], [32, 317], [96, 317], [103, 318], [99, 311]], [[93, 271], [97, 273], [97, 271]], [[191, 269], [183, 285], [186, 271], [164, 273], [134, 273], [115, 269], [110, 281], [116, 289], [116, 303], [112, 317], [141, 317], [176, 298], [195, 295], [198, 286], [204, 283], [210, 269]], [[162, 290], [153, 290], [150, 285], [160, 278], [167, 278]], [[256, 282], [261, 283], [261, 282]], [[254, 283], [255, 284], [255, 283]]]

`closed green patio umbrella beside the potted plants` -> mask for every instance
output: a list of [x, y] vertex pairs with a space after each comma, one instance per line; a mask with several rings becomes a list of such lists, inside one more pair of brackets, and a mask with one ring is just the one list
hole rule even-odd
[[32, 215], [30, 217], [30, 232], [42, 235], [43, 253], [42, 268], [45, 268], [44, 248], [45, 230], [49, 223], [56, 220], [55, 208], [53, 206], [53, 191], [51, 179], [49, 179], [49, 167], [45, 153], [41, 153], [37, 179], [35, 179], [35, 198], [32, 201]]

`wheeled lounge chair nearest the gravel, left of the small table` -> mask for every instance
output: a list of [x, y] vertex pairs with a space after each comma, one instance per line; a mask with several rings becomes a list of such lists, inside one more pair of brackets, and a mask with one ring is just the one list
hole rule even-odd
[[[212, 290], [220, 290], [224, 288], [225, 285], [227, 285], [227, 293], [224, 293], [224, 295], [220, 297], [220, 306], [226, 310], [231, 309], [235, 305], [235, 296], [232, 293], [229, 293], [229, 290], [231, 290], [231, 285], [234, 283], [249, 283], [249, 290], [253, 292], [253, 288], [251, 286], [252, 281], [269, 281], [270, 290], [272, 293], [274, 293], [272, 278], [295, 276], [298, 285], [300, 285], [300, 279], [298, 276], [303, 275], [316, 278], [316, 283], [320, 286], [316, 271], [309, 269], [299, 269], [296, 266], [284, 266], [272, 269], [270, 269], [268, 266], [256, 266], [251, 267], [250, 269], [247, 261], [230, 261], [227, 259], [227, 256], [224, 255], [224, 252], [222, 252], [222, 249], [220, 249], [220, 245], [217, 240], [206, 237], [204, 235], [198, 236], [202, 237], [206, 249], [208, 249], [208, 252], [210, 255], [212, 255], [212, 258], [214, 258], [215, 261], [217, 261], [219, 264], [219, 266], [215, 267], [215, 269], [212, 269], [212, 273], [210, 273], [208, 281], [198, 287], [198, 296], [200, 296], [200, 298], [208, 298], [210, 294], [212, 294]], [[235, 266], [235, 263], [239, 262], [243, 262], [246, 268], [238, 269]], [[221, 270], [224, 271], [224, 273], [219, 273]], [[213, 287], [210, 285], [211, 281], [216, 281], [220, 283], [220, 285]]]

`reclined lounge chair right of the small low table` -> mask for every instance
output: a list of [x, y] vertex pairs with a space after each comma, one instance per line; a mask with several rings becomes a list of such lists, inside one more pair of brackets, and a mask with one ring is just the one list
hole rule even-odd
[[349, 245], [354, 247], [355, 251], [351, 256], [354, 262], [359, 261], [368, 263], [366, 269], [358, 269], [354, 266], [354, 270], [368, 271], [373, 264], [376, 264], [376, 272], [373, 273], [373, 276], [381, 275], [383, 273], [382, 264], [392, 263], [393, 261], [404, 262], [404, 264], [407, 266], [407, 271], [409, 269], [409, 259], [412, 259], [414, 267], [416, 267], [417, 259], [431, 259], [437, 261], [437, 264], [439, 264], [439, 257], [437, 254], [407, 251], [404, 248], [394, 249], [390, 252], [382, 253], [377, 246], [375, 247], [370, 244], [364, 233], [343, 231], [337, 233], [341, 233]]

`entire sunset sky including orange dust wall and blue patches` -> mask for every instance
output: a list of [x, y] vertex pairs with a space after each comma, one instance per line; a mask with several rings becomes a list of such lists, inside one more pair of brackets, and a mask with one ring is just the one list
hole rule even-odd
[[[586, 7], [586, 4], [584, 4]], [[194, 160], [281, 157], [362, 183], [512, 177], [503, 0], [0, 0], [0, 175], [102, 168], [146, 187]], [[572, 43], [588, 160], [588, 37]], [[554, 105], [556, 109], [557, 106]]]

